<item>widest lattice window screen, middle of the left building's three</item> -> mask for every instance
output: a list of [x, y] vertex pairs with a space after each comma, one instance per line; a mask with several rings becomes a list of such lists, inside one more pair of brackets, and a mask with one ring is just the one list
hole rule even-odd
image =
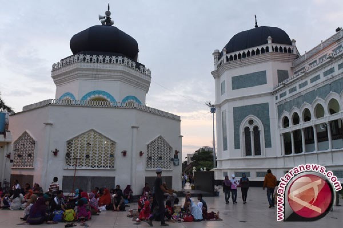
[[67, 141], [66, 167], [75, 167], [78, 159], [79, 168], [114, 169], [116, 142], [97, 133], [88, 131]]

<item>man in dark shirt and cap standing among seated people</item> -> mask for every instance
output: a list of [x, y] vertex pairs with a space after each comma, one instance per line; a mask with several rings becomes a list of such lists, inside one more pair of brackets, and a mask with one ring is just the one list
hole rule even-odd
[[[158, 168], [156, 169], [156, 179], [155, 179], [155, 184], [154, 184], [154, 188], [155, 188], [155, 200], [156, 200], [156, 203], [158, 205], [158, 213], [159, 213], [159, 216], [161, 218], [161, 226], [169, 226], [169, 224], [166, 224], [164, 222], [164, 196], [163, 196], [163, 193], [166, 192], [166, 193], [169, 193], [170, 195], [173, 194], [173, 192], [171, 191], [168, 191], [166, 190], [164, 187], [163, 187], [163, 182], [162, 182], [162, 178], [161, 178], [161, 175], [162, 175], [162, 169]], [[147, 223], [150, 225], [150, 226], [153, 226], [152, 225], [152, 220], [156, 217], [156, 214], [154, 213], [150, 218], [149, 220], [147, 221]]]

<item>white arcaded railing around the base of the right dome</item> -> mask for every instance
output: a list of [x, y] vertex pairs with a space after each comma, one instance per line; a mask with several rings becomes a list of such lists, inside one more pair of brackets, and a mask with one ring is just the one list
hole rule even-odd
[[288, 54], [297, 54], [297, 50], [293, 45], [285, 45], [285, 44], [276, 44], [276, 43], [268, 43], [261, 46], [256, 46], [253, 48], [240, 50], [237, 52], [227, 53], [224, 54], [217, 63], [216, 69], [220, 68], [220, 66], [226, 62], [236, 61], [239, 59], [249, 58], [251, 56], [260, 55], [268, 52], [277, 52], [277, 53], [288, 53]]

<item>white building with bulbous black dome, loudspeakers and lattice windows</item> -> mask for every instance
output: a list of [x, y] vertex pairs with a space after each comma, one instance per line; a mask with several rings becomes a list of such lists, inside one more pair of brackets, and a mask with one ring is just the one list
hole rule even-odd
[[47, 189], [122, 188], [134, 195], [152, 186], [156, 168], [168, 186], [181, 189], [180, 117], [145, 106], [151, 71], [137, 62], [138, 43], [112, 26], [75, 34], [72, 55], [52, 65], [55, 99], [27, 105], [10, 116], [11, 182]]

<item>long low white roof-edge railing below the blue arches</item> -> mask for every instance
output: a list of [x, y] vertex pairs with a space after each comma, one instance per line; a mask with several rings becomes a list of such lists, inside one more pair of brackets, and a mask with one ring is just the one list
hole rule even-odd
[[151, 108], [138, 103], [121, 103], [121, 102], [106, 102], [106, 101], [95, 101], [95, 100], [68, 100], [68, 99], [47, 99], [41, 102], [37, 102], [31, 105], [23, 107], [23, 111], [28, 111], [35, 108], [40, 108], [47, 105], [63, 105], [63, 106], [87, 106], [87, 107], [108, 107], [108, 108], [131, 108], [139, 109], [145, 112], [150, 112], [156, 115], [167, 117], [174, 120], [180, 120], [180, 117], [169, 112], [161, 111], [155, 108]]

